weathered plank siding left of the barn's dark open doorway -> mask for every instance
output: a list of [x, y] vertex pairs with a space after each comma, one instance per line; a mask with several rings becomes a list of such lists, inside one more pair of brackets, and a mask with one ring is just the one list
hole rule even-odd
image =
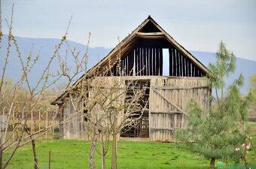
[[[110, 95], [113, 92], [112, 97], [117, 97], [120, 95], [120, 92], [123, 92], [122, 89], [125, 85], [125, 80], [121, 79], [120, 77], [94, 77], [91, 81], [92, 88], [89, 92], [89, 99], [94, 100], [97, 99], [96, 97], [104, 92], [105, 95]], [[115, 86], [116, 92], [110, 91], [111, 87]], [[100, 88], [100, 89], [97, 89]], [[104, 98], [105, 96], [102, 96]], [[119, 97], [116, 101], [113, 101], [113, 104], [121, 105], [124, 101], [125, 95], [123, 97]], [[106, 100], [105, 104], [108, 104], [111, 100]], [[74, 101], [75, 102], [75, 101]], [[84, 104], [86, 102], [79, 102], [72, 105], [70, 98], [65, 98], [64, 105], [63, 105], [63, 138], [64, 139], [77, 139], [77, 140], [90, 140], [90, 128], [92, 128], [91, 123], [89, 121], [84, 121]], [[75, 106], [75, 109], [74, 109]], [[105, 107], [107, 108], [107, 107]], [[80, 111], [80, 112], [79, 112]], [[88, 112], [89, 113], [89, 112]], [[93, 121], [97, 121], [99, 118], [102, 118], [101, 114], [103, 110], [100, 108], [98, 104], [96, 104], [90, 112], [90, 119]], [[120, 116], [123, 114], [120, 112]], [[117, 123], [120, 123], [120, 116], [117, 116]], [[90, 120], [88, 119], [88, 120]], [[101, 120], [101, 126], [105, 126], [108, 124], [105, 120]], [[101, 129], [101, 128], [99, 128]], [[119, 135], [117, 135], [119, 138]], [[111, 139], [111, 136], [110, 136]]]

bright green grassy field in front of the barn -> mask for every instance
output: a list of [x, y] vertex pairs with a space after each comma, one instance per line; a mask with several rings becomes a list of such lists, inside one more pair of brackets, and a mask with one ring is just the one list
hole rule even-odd
[[[254, 139], [256, 142], [256, 139]], [[255, 143], [256, 144], [256, 143]], [[89, 168], [87, 163], [90, 143], [79, 140], [48, 140], [37, 144], [40, 169], [48, 168], [48, 152], [51, 152], [51, 168], [80, 169]], [[249, 152], [252, 154], [253, 152]], [[256, 162], [248, 160], [250, 164]], [[232, 164], [232, 163], [230, 163]], [[111, 166], [111, 156], [106, 157], [107, 168]], [[100, 168], [100, 156], [96, 152], [96, 166]], [[209, 168], [209, 160], [202, 156], [178, 148], [175, 143], [128, 142], [118, 144], [118, 167], [121, 169], [139, 168]], [[21, 147], [8, 169], [33, 168], [32, 149], [30, 145]]]

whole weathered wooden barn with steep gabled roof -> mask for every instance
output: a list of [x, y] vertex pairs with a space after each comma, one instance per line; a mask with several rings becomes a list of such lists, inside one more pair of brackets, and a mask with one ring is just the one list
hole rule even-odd
[[[106, 79], [119, 77], [118, 56], [124, 74], [122, 80], [136, 80], [141, 88], [147, 84], [144, 97], [149, 103], [139, 125], [123, 132], [120, 137], [173, 141], [175, 130], [186, 126], [189, 116], [187, 102], [190, 99], [198, 101], [204, 110], [209, 107], [211, 89], [206, 81], [209, 70], [150, 16], [87, 74], [97, 74]], [[105, 73], [107, 67], [111, 70], [108, 74]], [[74, 109], [66, 92], [52, 104], [61, 107], [62, 120], [72, 116]], [[62, 137], [89, 139], [83, 125], [85, 119], [78, 116], [71, 119], [60, 128]]]

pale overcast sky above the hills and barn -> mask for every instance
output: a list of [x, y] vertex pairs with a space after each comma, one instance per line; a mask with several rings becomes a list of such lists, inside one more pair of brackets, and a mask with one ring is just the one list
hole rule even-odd
[[[256, 60], [255, 0], [2, 0], [14, 35], [61, 38], [72, 16], [68, 38], [91, 47], [115, 47], [148, 15], [187, 50], [215, 52], [221, 40], [236, 56]], [[7, 33], [3, 23], [4, 33]]]

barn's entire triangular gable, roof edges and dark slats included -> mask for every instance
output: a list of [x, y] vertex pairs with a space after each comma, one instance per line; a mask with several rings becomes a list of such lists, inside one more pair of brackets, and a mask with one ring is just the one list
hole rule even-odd
[[[168, 51], [167, 76], [203, 77], [208, 69], [166, 33], [150, 16], [111, 53], [88, 71], [98, 76], [163, 76], [163, 50]], [[118, 66], [120, 69], [118, 70]], [[109, 70], [109, 68], [111, 68]]]

